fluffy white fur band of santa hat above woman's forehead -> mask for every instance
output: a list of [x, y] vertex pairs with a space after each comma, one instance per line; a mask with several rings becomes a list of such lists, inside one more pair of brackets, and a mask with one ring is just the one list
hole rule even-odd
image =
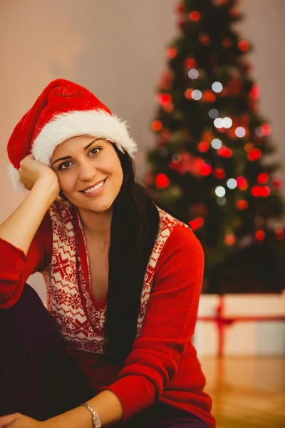
[[33, 141], [33, 156], [36, 161], [50, 165], [56, 146], [76, 136], [104, 138], [115, 143], [120, 151], [128, 152], [132, 158], [137, 151], [124, 121], [103, 110], [89, 110], [59, 114], [43, 126]]

